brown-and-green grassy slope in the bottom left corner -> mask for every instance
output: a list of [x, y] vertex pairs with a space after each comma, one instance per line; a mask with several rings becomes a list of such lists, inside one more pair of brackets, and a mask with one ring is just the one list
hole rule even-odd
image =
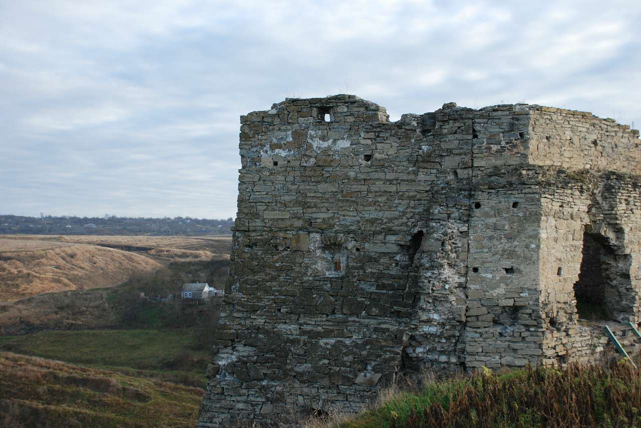
[[0, 427], [191, 427], [203, 391], [0, 353]]

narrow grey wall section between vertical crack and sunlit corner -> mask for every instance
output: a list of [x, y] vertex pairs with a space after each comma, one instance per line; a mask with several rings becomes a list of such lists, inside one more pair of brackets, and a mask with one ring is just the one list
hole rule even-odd
[[[540, 194], [527, 184], [528, 106], [474, 112], [466, 367], [523, 366], [542, 354]], [[530, 177], [531, 179], [531, 177]]]

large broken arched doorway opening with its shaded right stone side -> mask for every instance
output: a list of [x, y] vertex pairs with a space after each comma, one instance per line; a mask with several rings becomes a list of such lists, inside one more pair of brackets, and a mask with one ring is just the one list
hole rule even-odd
[[[617, 254], [611, 242], [590, 226], [583, 232], [579, 280], [574, 283], [576, 311], [581, 319], [628, 321], [635, 312], [629, 276], [630, 258]], [[562, 268], [557, 274], [562, 274]]]

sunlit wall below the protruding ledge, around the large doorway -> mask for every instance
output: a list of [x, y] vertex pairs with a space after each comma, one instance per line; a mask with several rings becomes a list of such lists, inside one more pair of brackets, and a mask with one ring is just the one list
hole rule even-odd
[[[583, 257], [601, 270], [603, 281], [597, 287], [611, 319], [640, 321], [641, 193], [638, 181], [619, 180], [599, 173], [568, 177], [556, 171], [542, 186], [539, 271], [545, 363], [594, 361], [607, 343], [601, 327], [579, 322], [576, 312], [573, 287], [579, 280]], [[584, 234], [595, 240], [592, 244], [603, 247], [598, 254], [584, 254], [596, 250], [594, 245], [584, 248]]]

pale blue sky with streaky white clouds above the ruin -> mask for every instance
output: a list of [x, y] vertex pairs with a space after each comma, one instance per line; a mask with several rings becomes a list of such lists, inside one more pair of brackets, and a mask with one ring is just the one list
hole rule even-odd
[[639, 1], [0, 0], [0, 214], [235, 216], [238, 116], [353, 93], [641, 125]]

